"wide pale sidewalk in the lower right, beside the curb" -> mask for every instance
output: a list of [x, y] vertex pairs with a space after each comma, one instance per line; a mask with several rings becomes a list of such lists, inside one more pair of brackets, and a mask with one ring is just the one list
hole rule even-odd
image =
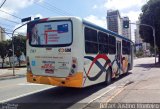
[[111, 103], [160, 103], [160, 67], [143, 66], [141, 77], [128, 85]]

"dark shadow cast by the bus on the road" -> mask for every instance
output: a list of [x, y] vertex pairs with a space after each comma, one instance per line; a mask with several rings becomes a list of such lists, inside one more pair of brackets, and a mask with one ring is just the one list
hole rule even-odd
[[[114, 79], [112, 83], [130, 74], [132, 73], [130, 72], [127, 75], [122, 75], [118, 79]], [[92, 85], [82, 89], [54, 87], [9, 101], [7, 103], [18, 104], [18, 109], [66, 109], [105, 87], [107, 86], [104, 83]]]

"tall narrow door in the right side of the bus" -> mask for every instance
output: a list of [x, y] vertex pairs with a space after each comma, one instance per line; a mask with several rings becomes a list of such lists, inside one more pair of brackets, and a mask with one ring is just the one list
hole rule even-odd
[[118, 64], [118, 69], [119, 69], [119, 73], [120, 72], [120, 68], [121, 68], [121, 50], [122, 47], [121, 47], [121, 42], [120, 41], [117, 41], [117, 64]]

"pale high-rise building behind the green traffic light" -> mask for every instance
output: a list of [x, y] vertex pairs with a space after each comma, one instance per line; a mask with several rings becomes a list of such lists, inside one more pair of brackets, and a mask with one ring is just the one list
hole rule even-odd
[[[131, 23], [131, 21], [129, 20], [128, 17], [123, 17], [122, 18], [122, 27], [123, 27], [123, 21], [128, 20], [129, 23]], [[128, 39], [131, 39], [131, 26], [129, 26], [129, 28], [122, 28], [122, 35], [127, 37]]]

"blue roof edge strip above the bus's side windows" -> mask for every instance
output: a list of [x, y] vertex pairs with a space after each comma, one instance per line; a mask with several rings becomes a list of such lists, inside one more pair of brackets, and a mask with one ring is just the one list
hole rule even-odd
[[[93, 23], [91, 23], [91, 22], [88, 22], [88, 21], [84, 20], [84, 19], [83, 19], [82, 21], [83, 21], [83, 24], [85, 24], [85, 25], [87, 25], [87, 26], [93, 27], [93, 28], [95, 28], [95, 29], [101, 30], [101, 31], [103, 31], [103, 32], [109, 33], [109, 34], [114, 35], [114, 36], [116, 36], [116, 37], [122, 38], [122, 39], [124, 39], [124, 40], [129, 41], [129, 42], [132, 42], [130, 39], [127, 39], [127, 38], [125, 38], [124, 36], [121, 36], [121, 35], [113, 32], [113, 31], [110, 31], [110, 30], [107, 30], [107, 29], [102, 28], [102, 27], [100, 27], [100, 26], [97, 26], [97, 25], [95, 25], [95, 24], [93, 24]], [[132, 43], [133, 43], [133, 42], [132, 42]]]

